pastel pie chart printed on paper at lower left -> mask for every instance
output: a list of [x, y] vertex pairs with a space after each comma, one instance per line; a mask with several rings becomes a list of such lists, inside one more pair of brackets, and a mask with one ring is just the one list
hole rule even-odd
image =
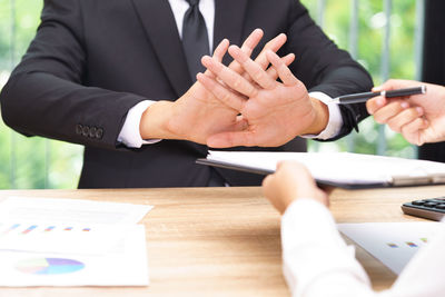
[[30, 275], [63, 275], [83, 269], [85, 264], [63, 258], [31, 258], [20, 260], [16, 269]]

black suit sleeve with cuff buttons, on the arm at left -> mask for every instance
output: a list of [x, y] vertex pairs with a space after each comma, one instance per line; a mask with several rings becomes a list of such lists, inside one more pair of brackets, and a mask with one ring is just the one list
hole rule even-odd
[[108, 149], [116, 148], [127, 111], [141, 100], [34, 71], [13, 75], [0, 95], [3, 120], [17, 131]]

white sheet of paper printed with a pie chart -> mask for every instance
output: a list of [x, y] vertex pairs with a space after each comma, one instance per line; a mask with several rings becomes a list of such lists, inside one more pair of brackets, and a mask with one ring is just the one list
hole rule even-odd
[[0, 251], [0, 286], [147, 286], [145, 228], [134, 225], [103, 256]]

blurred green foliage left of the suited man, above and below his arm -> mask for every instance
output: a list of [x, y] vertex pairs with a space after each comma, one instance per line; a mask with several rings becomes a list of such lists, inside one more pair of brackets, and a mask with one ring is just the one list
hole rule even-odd
[[[39, 24], [42, 0], [0, 0], [0, 89]], [[24, 137], [0, 121], [0, 189], [76, 188], [82, 147]]]

